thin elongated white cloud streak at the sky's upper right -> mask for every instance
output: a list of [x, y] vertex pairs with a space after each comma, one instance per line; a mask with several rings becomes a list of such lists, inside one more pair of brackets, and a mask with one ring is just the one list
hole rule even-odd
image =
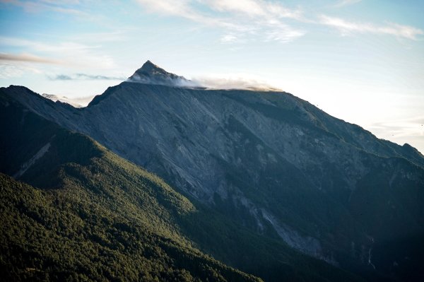
[[387, 25], [375, 25], [372, 23], [355, 23], [343, 18], [334, 18], [326, 15], [319, 17], [319, 23], [337, 28], [343, 35], [349, 33], [375, 33], [394, 35], [396, 37], [417, 40], [418, 35], [424, 35], [424, 31], [409, 25], [387, 23]]

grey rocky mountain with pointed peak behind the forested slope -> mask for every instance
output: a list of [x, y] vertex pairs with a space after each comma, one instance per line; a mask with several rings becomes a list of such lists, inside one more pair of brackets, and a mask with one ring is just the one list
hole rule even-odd
[[2, 91], [264, 238], [385, 277], [418, 265], [424, 157], [415, 148], [289, 93], [206, 90], [183, 79], [148, 61], [81, 109], [23, 87]]

